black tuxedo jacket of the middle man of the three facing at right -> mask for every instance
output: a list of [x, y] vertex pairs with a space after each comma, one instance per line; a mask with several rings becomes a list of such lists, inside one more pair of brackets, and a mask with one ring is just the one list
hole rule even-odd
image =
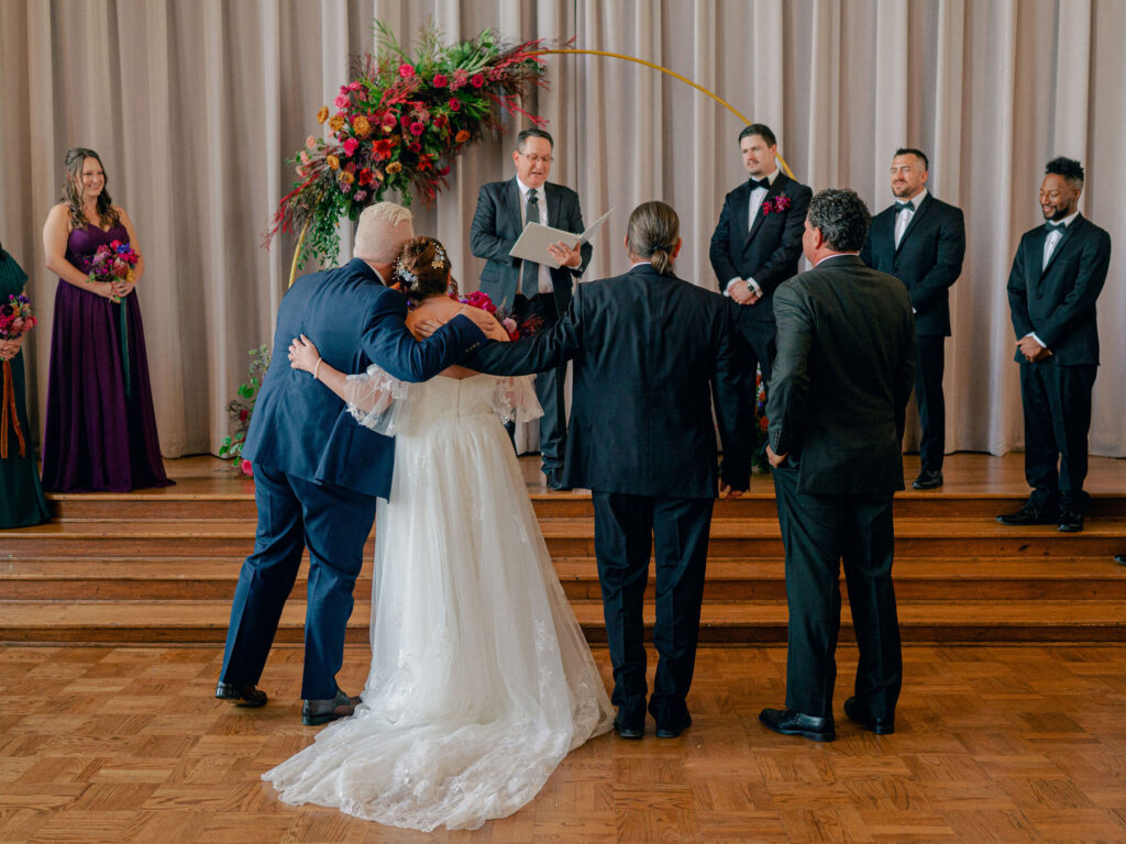
[[950, 285], [962, 273], [966, 224], [962, 209], [927, 194], [915, 208], [899, 249], [895, 206], [872, 218], [860, 259], [908, 286], [920, 336], [950, 335]]

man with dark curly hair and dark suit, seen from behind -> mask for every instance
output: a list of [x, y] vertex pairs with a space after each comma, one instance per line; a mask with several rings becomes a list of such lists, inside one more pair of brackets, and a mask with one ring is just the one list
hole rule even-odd
[[813, 269], [775, 294], [767, 457], [786, 549], [789, 649], [786, 708], [763, 709], [759, 720], [815, 742], [837, 737], [841, 564], [860, 649], [844, 713], [892, 733], [903, 676], [892, 496], [903, 488], [914, 320], [903, 282], [860, 260], [867, 230], [868, 209], [854, 191], [817, 194], [803, 236]]

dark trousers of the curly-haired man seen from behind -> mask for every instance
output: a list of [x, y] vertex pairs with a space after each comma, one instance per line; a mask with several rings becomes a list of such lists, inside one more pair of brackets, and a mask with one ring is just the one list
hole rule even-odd
[[903, 683], [892, 494], [810, 495], [798, 492], [793, 467], [775, 469], [774, 481], [789, 604], [786, 706], [832, 716], [843, 563], [860, 650], [854, 693], [873, 716], [891, 718]]

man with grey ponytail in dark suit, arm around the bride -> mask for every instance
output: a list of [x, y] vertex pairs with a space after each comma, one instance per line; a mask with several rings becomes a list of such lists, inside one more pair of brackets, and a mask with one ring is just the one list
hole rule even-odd
[[563, 479], [591, 491], [595, 553], [623, 738], [645, 727], [644, 619], [650, 551], [656, 563], [653, 645], [660, 661], [649, 711], [659, 738], [691, 724], [685, 699], [696, 664], [704, 567], [717, 492], [747, 490], [749, 427], [731, 313], [715, 293], [673, 273], [677, 213], [644, 203], [629, 215], [623, 276], [580, 285], [549, 332], [490, 343], [466, 366], [522, 375], [574, 361], [571, 432]]

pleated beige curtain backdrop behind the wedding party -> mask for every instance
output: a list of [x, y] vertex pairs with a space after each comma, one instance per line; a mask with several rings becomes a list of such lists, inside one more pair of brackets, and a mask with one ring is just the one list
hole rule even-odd
[[[448, 38], [497, 27], [511, 39], [646, 59], [715, 90], [778, 134], [814, 190], [849, 186], [891, 201], [896, 146], [930, 154], [930, 189], [966, 213], [951, 299], [947, 448], [1003, 454], [1022, 442], [1006, 280], [1039, 224], [1044, 163], [1088, 169], [1083, 213], [1110, 232], [1099, 299], [1102, 367], [1091, 450], [1126, 456], [1126, 3], [1117, 0], [0, 0], [0, 241], [30, 273], [42, 326], [28, 343], [42, 429], [52, 302], [41, 227], [62, 159], [90, 146], [133, 217], [148, 271], [138, 288], [164, 455], [214, 452], [248, 350], [271, 339], [293, 239], [262, 232], [294, 176], [283, 159], [374, 46], [372, 21], [408, 41], [428, 18]], [[587, 278], [626, 268], [626, 216], [659, 198], [681, 215], [682, 277], [715, 288], [707, 245], [724, 194], [745, 173], [738, 118], [640, 65], [551, 56], [534, 108], [556, 137], [553, 178], [593, 219]], [[512, 129], [522, 126], [511, 126]], [[512, 172], [511, 134], [457, 162], [415, 227], [450, 248], [472, 288], [477, 188]], [[350, 248], [350, 228], [345, 232]], [[347, 257], [347, 255], [346, 255]]]

